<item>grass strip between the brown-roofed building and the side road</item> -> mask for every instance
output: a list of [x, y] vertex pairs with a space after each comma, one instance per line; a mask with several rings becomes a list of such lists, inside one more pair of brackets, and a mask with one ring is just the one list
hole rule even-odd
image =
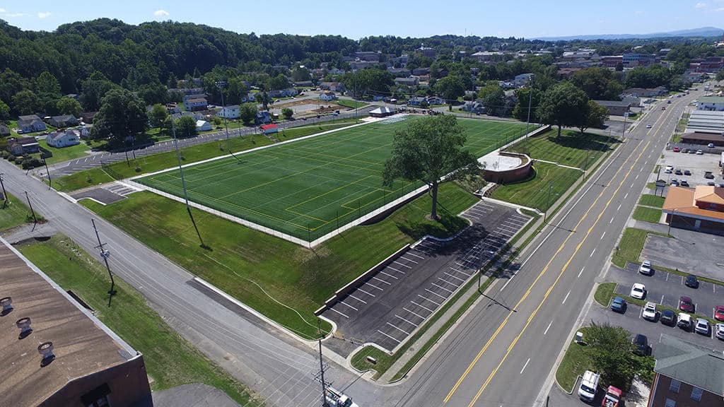
[[64, 290], [83, 298], [101, 322], [143, 353], [153, 390], [201, 382], [223, 390], [243, 406], [260, 405], [250, 401], [248, 390], [240, 382], [174, 332], [146, 305], [143, 295], [117, 276], [118, 293], [109, 307], [105, 269], [69, 238], [56, 235], [18, 249]]

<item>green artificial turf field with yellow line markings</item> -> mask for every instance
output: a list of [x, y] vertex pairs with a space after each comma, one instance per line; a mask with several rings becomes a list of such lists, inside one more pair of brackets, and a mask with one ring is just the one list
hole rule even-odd
[[[302, 240], [314, 240], [421, 186], [382, 186], [395, 130], [408, 120], [375, 122], [184, 168], [190, 201]], [[525, 133], [526, 125], [458, 119], [473, 155]], [[182, 196], [177, 169], [136, 180]]]

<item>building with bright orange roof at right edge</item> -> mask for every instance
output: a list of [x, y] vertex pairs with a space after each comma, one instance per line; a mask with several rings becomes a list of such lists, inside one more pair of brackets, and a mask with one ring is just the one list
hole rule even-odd
[[671, 227], [724, 235], [724, 188], [669, 187], [662, 211]]

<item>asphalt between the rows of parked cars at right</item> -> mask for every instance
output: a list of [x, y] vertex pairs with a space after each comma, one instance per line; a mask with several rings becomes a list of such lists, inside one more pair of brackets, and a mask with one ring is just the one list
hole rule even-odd
[[631, 293], [633, 283], [641, 282], [647, 290], [645, 301], [673, 308], [678, 308], [679, 297], [686, 295], [694, 301], [696, 314], [710, 318], [714, 317], [715, 306], [724, 305], [724, 287], [699, 281], [699, 288], [689, 288], [683, 283], [684, 277], [677, 274], [655, 269], [651, 276], [641, 274], [639, 264], [628, 263], [623, 270], [611, 267], [607, 278], [617, 282], [616, 293], [624, 295]]

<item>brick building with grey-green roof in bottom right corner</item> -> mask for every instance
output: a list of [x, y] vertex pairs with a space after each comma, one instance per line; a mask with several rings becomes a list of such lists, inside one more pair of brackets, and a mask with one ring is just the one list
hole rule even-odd
[[663, 334], [654, 358], [648, 407], [724, 407], [721, 351]]

